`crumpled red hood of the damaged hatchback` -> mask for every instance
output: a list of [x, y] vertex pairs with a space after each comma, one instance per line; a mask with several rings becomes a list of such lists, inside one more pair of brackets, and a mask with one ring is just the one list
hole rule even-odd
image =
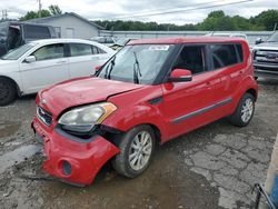
[[54, 117], [63, 110], [141, 88], [141, 84], [86, 77], [54, 84], [39, 92], [39, 104]]

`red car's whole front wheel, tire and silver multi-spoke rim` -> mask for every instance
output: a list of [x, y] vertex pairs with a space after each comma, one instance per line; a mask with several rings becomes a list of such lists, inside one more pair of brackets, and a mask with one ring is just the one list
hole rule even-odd
[[120, 153], [112, 165], [117, 172], [128, 178], [141, 175], [149, 166], [155, 151], [155, 133], [149, 126], [139, 126], [117, 139]]

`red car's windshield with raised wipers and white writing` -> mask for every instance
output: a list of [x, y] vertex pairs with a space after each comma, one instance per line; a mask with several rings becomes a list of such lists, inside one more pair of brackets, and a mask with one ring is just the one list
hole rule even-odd
[[101, 68], [98, 77], [151, 84], [172, 49], [173, 44], [126, 46]]

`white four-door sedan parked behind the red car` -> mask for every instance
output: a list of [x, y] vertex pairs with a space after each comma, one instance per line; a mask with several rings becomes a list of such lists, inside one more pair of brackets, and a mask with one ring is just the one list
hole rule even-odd
[[0, 106], [16, 96], [36, 93], [53, 83], [95, 73], [115, 51], [80, 39], [29, 42], [0, 58]]

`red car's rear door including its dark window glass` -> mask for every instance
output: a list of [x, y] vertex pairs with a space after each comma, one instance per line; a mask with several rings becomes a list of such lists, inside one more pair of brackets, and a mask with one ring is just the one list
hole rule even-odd
[[[210, 44], [211, 73], [220, 81], [215, 84], [214, 99], [216, 102], [226, 101], [227, 104], [219, 107], [214, 112], [224, 117], [232, 110], [232, 93], [242, 79], [242, 49], [239, 43], [215, 43]], [[229, 102], [228, 102], [229, 101]]]

